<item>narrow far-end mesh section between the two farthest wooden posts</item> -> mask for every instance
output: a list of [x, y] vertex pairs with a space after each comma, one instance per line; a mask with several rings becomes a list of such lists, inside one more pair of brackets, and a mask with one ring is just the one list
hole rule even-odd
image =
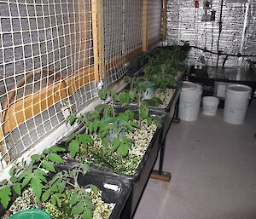
[[161, 0], [148, 0], [148, 47], [160, 43], [162, 38], [162, 11]]

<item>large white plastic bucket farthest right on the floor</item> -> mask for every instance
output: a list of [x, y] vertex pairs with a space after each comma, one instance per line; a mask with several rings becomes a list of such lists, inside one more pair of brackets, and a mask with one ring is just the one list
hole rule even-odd
[[252, 88], [243, 84], [230, 84], [226, 88], [224, 103], [224, 121], [230, 124], [242, 124], [247, 114], [248, 101]]

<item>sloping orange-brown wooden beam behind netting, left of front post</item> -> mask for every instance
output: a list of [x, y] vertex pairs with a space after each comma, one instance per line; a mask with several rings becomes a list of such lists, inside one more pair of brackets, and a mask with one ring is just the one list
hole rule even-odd
[[[31, 95], [26, 95], [25, 98], [20, 98], [13, 103], [3, 104], [5, 106], [3, 107], [2, 117], [3, 135], [15, 130], [26, 120], [44, 112], [58, 101], [67, 98], [68, 95], [73, 95], [78, 89], [92, 81], [95, 81], [94, 67], [88, 67], [84, 71], [77, 72], [69, 77], [67, 82], [59, 80], [55, 84], [50, 84]], [[16, 92], [18, 90], [11, 91], [9, 96], [14, 96]], [[12, 97], [9, 97], [9, 99], [11, 100]], [[0, 131], [0, 142], [3, 141], [3, 135]]]

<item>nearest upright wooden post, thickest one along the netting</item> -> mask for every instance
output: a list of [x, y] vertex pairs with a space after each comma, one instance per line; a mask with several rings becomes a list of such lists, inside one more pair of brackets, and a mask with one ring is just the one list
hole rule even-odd
[[102, 0], [91, 0], [92, 39], [94, 53], [95, 78], [104, 77], [104, 32]]

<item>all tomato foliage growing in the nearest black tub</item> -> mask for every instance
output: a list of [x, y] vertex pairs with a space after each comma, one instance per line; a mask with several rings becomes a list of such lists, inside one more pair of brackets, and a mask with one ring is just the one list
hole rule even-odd
[[79, 176], [89, 171], [89, 165], [76, 163], [69, 170], [57, 172], [55, 164], [64, 162], [58, 153], [65, 151], [62, 147], [50, 147], [41, 154], [32, 155], [29, 163], [22, 160], [15, 164], [9, 171], [9, 181], [0, 183], [1, 205], [7, 209], [14, 193], [20, 196], [30, 187], [39, 207], [44, 206], [44, 210], [54, 216], [55, 212], [62, 212], [55, 218], [92, 218], [94, 205], [86, 189], [90, 188], [93, 193], [99, 190], [94, 185], [82, 187], [79, 184]]

